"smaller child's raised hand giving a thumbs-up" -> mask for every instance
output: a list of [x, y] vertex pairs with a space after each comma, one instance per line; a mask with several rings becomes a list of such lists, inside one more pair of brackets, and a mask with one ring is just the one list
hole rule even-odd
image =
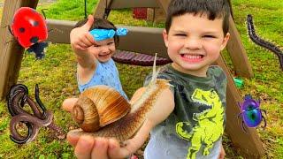
[[70, 33], [70, 41], [72, 49], [75, 52], [84, 52], [88, 47], [94, 45], [96, 42], [91, 34], [89, 34], [89, 29], [94, 23], [94, 17], [92, 15], [88, 16], [88, 21], [82, 27], [74, 28]]

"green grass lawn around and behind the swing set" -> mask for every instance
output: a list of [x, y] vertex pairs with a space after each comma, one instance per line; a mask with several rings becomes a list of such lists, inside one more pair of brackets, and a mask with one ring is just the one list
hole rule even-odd
[[[249, 41], [246, 34], [246, 16], [251, 13], [256, 25], [256, 33], [264, 39], [272, 40], [283, 46], [283, 1], [281, 0], [235, 0], [233, 12], [235, 24], [241, 34], [241, 41], [249, 57], [255, 77], [244, 79], [241, 95], [251, 94], [261, 99], [261, 107], [267, 110], [267, 127], [257, 129], [264, 144], [265, 158], [283, 158], [283, 73], [279, 62], [271, 52], [261, 49]], [[92, 12], [96, 1], [88, 0], [88, 13]], [[59, 0], [56, 4], [40, 5], [38, 11], [48, 8], [48, 19], [79, 20], [84, 17], [83, 0]], [[0, 14], [1, 18], [1, 14]], [[112, 11], [110, 18], [114, 24], [164, 27], [145, 20], [132, 18], [131, 10]], [[232, 68], [231, 60], [224, 53], [226, 61]], [[144, 77], [151, 71], [150, 67], [118, 64], [120, 79], [131, 96], [138, 87], [142, 87]], [[76, 85], [76, 60], [69, 45], [50, 44], [46, 58], [34, 61], [33, 55], [23, 58], [19, 72], [19, 83], [27, 85], [30, 95], [34, 96], [34, 85], [39, 84], [42, 102], [55, 114], [55, 122], [65, 132], [75, 126], [70, 114], [61, 110], [65, 98], [79, 95]], [[55, 140], [47, 129], [41, 129], [33, 142], [18, 146], [9, 139], [10, 116], [5, 102], [0, 102], [0, 158], [72, 158], [73, 148], [64, 140]], [[224, 137], [224, 146], [228, 158], [241, 158], [233, 148], [228, 136]]]

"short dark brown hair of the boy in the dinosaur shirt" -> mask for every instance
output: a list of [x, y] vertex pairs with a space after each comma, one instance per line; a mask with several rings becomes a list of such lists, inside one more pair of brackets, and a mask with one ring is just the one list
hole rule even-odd
[[[223, 33], [229, 30], [229, 16], [231, 14], [230, 0], [172, 0], [168, 6], [165, 22], [166, 32], [169, 33], [174, 17], [186, 13], [207, 14], [208, 19], [223, 19]], [[189, 21], [187, 22], [189, 23]]]

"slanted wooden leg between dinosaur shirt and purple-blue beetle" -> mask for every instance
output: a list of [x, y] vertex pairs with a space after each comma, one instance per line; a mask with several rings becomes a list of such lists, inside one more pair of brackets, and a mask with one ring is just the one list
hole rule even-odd
[[233, 142], [233, 147], [240, 150], [241, 154], [248, 158], [260, 158], [264, 155], [264, 148], [255, 129], [247, 128], [247, 133], [241, 128], [241, 121], [238, 120], [238, 114], [241, 110], [238, 102], [242, 102], [241, 95], [233, 82], [233, 77], [221, 56], [216, 62], [227, 76], [226, 92], [226, 133]]

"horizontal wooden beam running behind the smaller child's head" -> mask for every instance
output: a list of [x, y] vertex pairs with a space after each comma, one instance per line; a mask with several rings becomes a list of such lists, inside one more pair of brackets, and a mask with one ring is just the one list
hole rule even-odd
[[[47, 41], [55, 43], [70, 43], [70, 32], [75, 21], [47, 19], [50, 31]], [[126, 27], [129, 33], [121, 36], [118, 49], [129, 50], [149, 55], [158, 54], [158, 57], [167, 57], [167, 49], [162, 37], [163, 28], [152, 27]], [[154, 44], [153, 44], [154, 43]]]

